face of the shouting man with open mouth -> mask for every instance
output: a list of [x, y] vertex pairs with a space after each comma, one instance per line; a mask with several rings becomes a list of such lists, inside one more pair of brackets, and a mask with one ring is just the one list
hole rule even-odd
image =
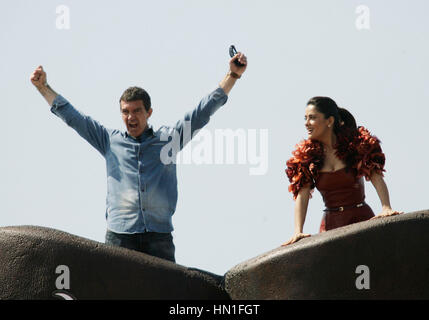
[[128, 134], [134, 138], [140, 136], [147, 127], [147, 119], [152, 114], [152, 108], [146, 111], [142, 100], [122, 101], [121, 114], [127, 127]]

